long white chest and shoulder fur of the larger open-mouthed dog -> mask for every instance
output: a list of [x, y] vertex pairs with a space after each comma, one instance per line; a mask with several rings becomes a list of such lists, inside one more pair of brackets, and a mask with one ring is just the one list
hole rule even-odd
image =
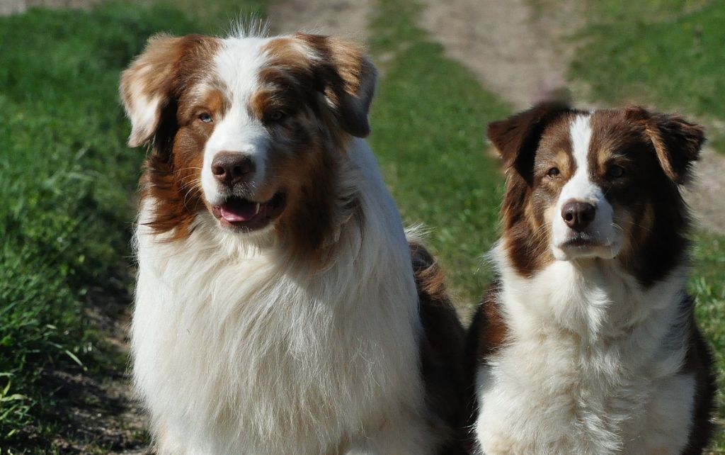
[[365, 141], [340, 152], [331, 197], [363, 216], [338, 226], [320, 271], [270, 229], [239, 237], [208, 213], [165, 242], [144, 202], [133, 377], [160, 454], [429, 453], [402, 222]]

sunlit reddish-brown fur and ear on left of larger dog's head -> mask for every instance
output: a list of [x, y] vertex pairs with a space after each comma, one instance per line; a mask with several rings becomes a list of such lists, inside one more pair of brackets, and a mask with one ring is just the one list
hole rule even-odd
[[[132, 110], [131, 97], [144, 87], [147, 97], [160, 99], [157, 118], [152, 126], [134, 123], [130, 142], [152, 142], [152, 153], [144, 163], [141, 177], [141, 206], [151, 197], [156, 207], [153, 218], [146, 223], [156, 234], [170, 233], [165, 239], [173, 241], [188, 236], [196, 213], [203, 209], [199, 177], [203, 163], [204, 144], [213, 129], [211, 126], [188, 125], [184, 119], [194, 99], [194, 89], [202, 81], [210, 81], [209, 62], [218, 51], [219, 41], [204, 36], [183, 38], [152, 38], [146, 52], [122, 76], [122, 94], [127, 110]], [[206, 92], [204, 92], [206, 93]], [[223, 115], [227, 107], [220, 91], [206, 94], [204, 104], [213, 115]], [[207, 128], [207, 131], [199, 131]], [[145, 131], [139, 136], [138, 131]]]

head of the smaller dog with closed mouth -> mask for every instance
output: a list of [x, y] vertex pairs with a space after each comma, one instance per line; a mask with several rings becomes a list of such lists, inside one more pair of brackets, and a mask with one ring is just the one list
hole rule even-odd
[[504, 246], [531, 275], [552, 261], [621, 261], [642, 282], [687, 246], [680, 185], [703, 128], [641, 107], [583, 112], [547, 102], [489, 126], [507, 168]]

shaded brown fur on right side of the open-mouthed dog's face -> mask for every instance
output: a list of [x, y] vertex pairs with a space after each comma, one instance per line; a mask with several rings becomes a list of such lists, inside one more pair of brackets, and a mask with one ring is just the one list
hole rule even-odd
[[[334, 102], [331, 110], [327, 91], [341, 81], [347, 81], [345, 89], [350, 91], [359, 90], [362, 83], [348, 74], [352, 61], [331, 60], [339, 50], [329, 49], [328, 41], [326, 37], [296, 35], [266, 44], [264, 52], [270, 57], [258, 76], [262, 90], [251, 104], [255, 117], [268, 124], [273, 138], [268, 186], [286, 192], [287, 208], [276, 225], [278, 236], [294, 256], [318, 263], [324, 261], [323, 246], [341, 218], [334, 213], [347, 210], [335, 200], [338, 182], [334, 179], [344, 159], [339, 150], [347, 148], [350, 137], [339, 117], [341, 107]], [[320, 49], [326, 53], [320, 55]], [[362, 62], [362, 54], [357, 59]], [[285, 114], [285, 120], [268, 122], [269, 112], [276, 110]]]

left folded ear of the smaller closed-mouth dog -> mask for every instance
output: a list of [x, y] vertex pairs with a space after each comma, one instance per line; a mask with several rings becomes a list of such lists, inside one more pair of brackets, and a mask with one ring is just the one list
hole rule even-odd
[[488, 138], [502, 157], [505, 168], [514, 169], [531, 184], [534, 152], [539, 147], [544, 128], [568, 110], [570, 107], [565, 102], [547, 101], [506, 120], [490, 123]]

